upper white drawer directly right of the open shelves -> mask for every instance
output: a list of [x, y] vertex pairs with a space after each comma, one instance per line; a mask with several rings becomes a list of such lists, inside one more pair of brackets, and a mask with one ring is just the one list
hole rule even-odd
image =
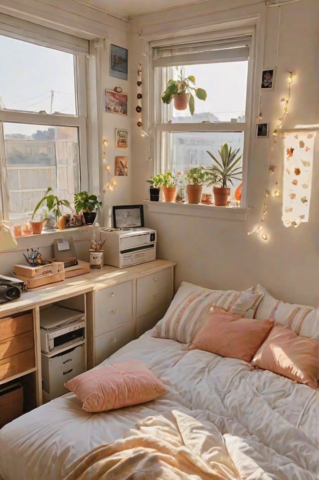
[[132, 282], [99, 290], [94, 294], [95, 336], [133, 321]]

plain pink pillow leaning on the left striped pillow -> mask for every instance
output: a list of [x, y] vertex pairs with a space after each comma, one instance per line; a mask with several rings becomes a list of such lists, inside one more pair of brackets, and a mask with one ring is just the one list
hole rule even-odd
[[215, 307], [188, 349], [250, 362], [273, 325], [273, 320], [243, 319]]

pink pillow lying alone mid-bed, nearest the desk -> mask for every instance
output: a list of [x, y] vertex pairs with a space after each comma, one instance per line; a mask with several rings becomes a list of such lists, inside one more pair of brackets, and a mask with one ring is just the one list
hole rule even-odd
[[104, 412], [149, 402], [167, 393], [142, 362], [132, 360], [93, 368], [67, 381], [86, 412]]

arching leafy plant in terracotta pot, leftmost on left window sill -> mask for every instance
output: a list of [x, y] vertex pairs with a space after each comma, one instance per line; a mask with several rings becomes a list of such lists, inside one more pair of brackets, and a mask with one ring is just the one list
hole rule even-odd
[[[54, 220], [54, 225], [56, 224], [57, 220], [59, 217], [62, 215], [62, 207], [65, 206], [72, 210], [72, 207], [70, 205], [70, 202], [65, 199], [59, 199], [57, 195], [54, 195], [53, 189], [51, 187], [48, 187], [48, 189], [45, 192], [45, 195], [41, 200], [36, 204], [32, 217], [31, 217], [31, 228], [32, 232], [34, 234], [36, 233], [41, 233], [43, 224], [44, 222], [51, 217], [53, 217]], [[39, 210], [39, 208], [42, 207], [42, 212], [38, 216], [37, 220], [35, 221], [35, 216]]]

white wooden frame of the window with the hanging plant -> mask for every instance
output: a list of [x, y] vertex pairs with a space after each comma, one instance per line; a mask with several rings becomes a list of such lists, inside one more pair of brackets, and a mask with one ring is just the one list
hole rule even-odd
[[[241, 198], [241, 207], [247, 208], [247, 179], [248, 179], [248, 159], [250, 152], [252, 151], [252, 141], [254, 138], [255, 122], [256, 117], [254, 111], [256, 108], [256, 89], [254, 88], [254, 79], [256, 77], [257, 71], [257, 55], [256, 55], [256, 37], [257, 37], [257, 26], [258, 20], [253, 19], [251, 22], [247, 23], [246, 20], [239, 20], [234, 22], [233, 28], [225, 28], [223, 24], [215, 25], [212, 32], [205, 32], [202, 34], [192, 34], [189, 32], [187, 35], [174, 35], [171, 38], [167, 37], [163, 39], [159, 37], [158, 39], [152, 38], [148, 41], [148, 56], [151, 61], [151, 66], [149, 70], [148, 82], [150, 85], [149, 92], [154, 92], [155, 95], [149, 95], [149, 119], [150, 119], [150, 132], [153, 133], [152, 138], [150, 139], [150, 152], [154, 156], [154, 174], [159, 171], [165, 171], [170, 168], [170, 164], [167, 162], [168, 159], [168, 150], [166, 148], [165, 153], [163, 154], [164, 142], [162, 141], [161, 134], [162, 132], [243, 132], [244, 133], [244, 148], [243, 148], [243, 161], [242, 161], [242, 198]], [[163, 72], [163, 69], [160, 69], [154, 66], [153, 62], [153, 52], [156, 46], [163, 44], [177, 44], [183, 41], [201, 39], [203, 42], [208, 38], [213, 39], [223, 39], [229, 38], [230, 36], [240, 36], [240, 35], [250, 35], [250, 51], [248, 59], [248, 70], [247, 70], [247, 90], [246, 90], [246, 111], [245, 111], [245, 122], [219, 122], [212, 124], [200, 124], [200, 123], [168, 123], [169, 109], [172, 107], [165, 105], [160, 100], [160, 85], [165, 82], [161, 82], [160, 72]], [[171, 62], [170, 62], [171, 63]], [[186, 64], [187, 62], [185, 62]], [[189, 64], [190, 62], [188, 62]], [[201, 61], [200, 63], [205, 63]], [[213, 63], [213, 62], [211, 62]], [[158, 72], [156, 72], [156, 69]], [[161, 73], [163, 75], [163, 73]], [[166, 79], [168, 79], [166, 77]], [[157, 103], [157, 106], [156, 106]], [[168, 107], [168, 108], [167, 108]], [[164, 118], [166, 122], [161, 122], [161, 119]], [[168, 143], [168, 142], [167, 142]], [[166, 144], [167, 144], [166, 143]]]

